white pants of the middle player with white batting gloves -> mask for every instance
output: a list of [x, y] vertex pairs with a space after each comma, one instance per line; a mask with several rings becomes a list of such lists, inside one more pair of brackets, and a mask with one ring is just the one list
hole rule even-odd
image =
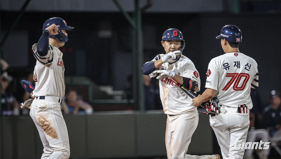
[[211, 159], [213, 155], [186, 155], [191, 137], [198, 125], [197, 109], [183, 114], [167, 115], [165, 143], [168, 159]]

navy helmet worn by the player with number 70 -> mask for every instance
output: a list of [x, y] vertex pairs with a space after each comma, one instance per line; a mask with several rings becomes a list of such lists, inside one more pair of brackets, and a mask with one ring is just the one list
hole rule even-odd
[[241, 30], [235, 25], [226, 25], [220, 31], [220, 35], [217, 39], [223, 38], [229, 42], [239, 43], [242, 41]]

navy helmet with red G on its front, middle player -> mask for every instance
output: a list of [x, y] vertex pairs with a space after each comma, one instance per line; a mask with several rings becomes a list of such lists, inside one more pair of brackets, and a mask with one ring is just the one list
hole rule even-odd
[[180, 32], [179, 29], [168, 29], [164, 32], [163, 36], [162, 36], [162, 41], [165, 40], [181, 40], [181, 45], [180, 45], [180, 51], [183, 52], [183, 49], [185, 47], [185, 42], [183, 40], [183, 34], [182, 32]]

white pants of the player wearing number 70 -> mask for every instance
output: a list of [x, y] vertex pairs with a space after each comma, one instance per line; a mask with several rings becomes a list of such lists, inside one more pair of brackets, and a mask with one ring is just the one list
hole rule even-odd
[[210, 116], [210, 125], [213, 128], [219, 146], [222, 151], [222, 157], [228, 159], [243, 158], [245, 146], [243, 149], [235, 149], [235, 142], [242, 140], [246, 142], [248, 128], [250, 127], [249, 111], [246, 114], [236, 113], [237, 108], [223, 107], [227, 112], [220, 113], [215, 117]]

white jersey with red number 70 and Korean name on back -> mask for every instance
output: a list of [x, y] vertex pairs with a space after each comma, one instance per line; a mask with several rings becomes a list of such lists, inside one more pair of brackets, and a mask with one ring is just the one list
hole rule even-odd
[[233, 52], [210, 61], [205, 87], [217, 91], [214, 97], [222, 105], [237, 108], [238, 104], [246, 104], [251, 109], [250, 91], [259, 86], [258, 80], [256, 61], [243, 53]]

